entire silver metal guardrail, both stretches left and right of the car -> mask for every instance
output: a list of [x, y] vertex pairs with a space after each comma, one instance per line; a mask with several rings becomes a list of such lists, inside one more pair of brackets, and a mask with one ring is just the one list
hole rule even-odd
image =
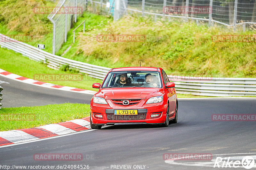
[[[0, 36], [4, 36], [0, 34]], [[6, 36], [4, 36], [6, 39]], [[36, 47], [9, 38], [0, 46], [21, 53], [32, 60], [43, 61], [48, 67], [59, 69], [61, 65], [76, 68], [81, 73], [103, 80], [111, 68], [87, 64], [47, 53]], [[178, 93], [199, 96], [256, 96], [256, 78], [185, 77], [168, 75]]]

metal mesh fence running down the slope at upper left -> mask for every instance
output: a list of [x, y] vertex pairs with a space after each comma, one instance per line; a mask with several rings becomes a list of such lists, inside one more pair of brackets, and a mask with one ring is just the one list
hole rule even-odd
[[60, 0], [47, 17], [53, 24], [52, 54], [67, 41], [67, 32], [76, 22], [77, 16], [86, 10], [87, 0]]

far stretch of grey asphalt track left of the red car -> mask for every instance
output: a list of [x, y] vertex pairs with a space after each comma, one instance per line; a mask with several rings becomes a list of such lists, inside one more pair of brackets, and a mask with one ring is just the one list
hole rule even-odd
[[39, 87], [20, 81], [14, 81], [3, 76], [0, 76], [0, 82], [1, 81], [10, 83], [0, 84], [4, 88], [2, 91], [3, 100], [1, 101], [3, 108], [42, 106], [61, 103], [90, 104], [90, 100], [92, 98], [92, 95], [88, 94]]

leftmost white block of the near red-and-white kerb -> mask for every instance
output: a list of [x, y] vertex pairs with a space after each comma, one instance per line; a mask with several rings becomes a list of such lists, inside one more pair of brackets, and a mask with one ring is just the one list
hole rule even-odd
[[27, 142], [30, 140], [37, 140], [39, 138], [36, 138], [35, 136], [32, 136], [24, 131], [1, 131], [0, 137], [4, 138], [6, 140], [9, 140], [12, 143], [20, 143], [20, 142]]

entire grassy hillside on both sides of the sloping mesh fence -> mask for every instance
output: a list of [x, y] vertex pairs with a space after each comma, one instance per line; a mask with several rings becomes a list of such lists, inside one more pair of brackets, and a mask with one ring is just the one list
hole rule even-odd
[[[0, 3], [0, 33], [41, 35], [42, 38], [27, 42], [36, 46], [45, 44], [45, 51], [52, 52], [52, 24], [48, 14], [34, 14], [35, 6], [54, 6], [44, 0], [4, 0]], [[15, 9], [15, 10], [13, 10]], [[72, 30], [86, 20], [72, 42]], [[212, 35], [253, 34], [255, 30], [233, 32], [226, 27], [208, 28], [179, 19], [158, 20], [126, 16], [113, 22], [109, 16], [85, 12], [68, 32], [67, 42], [56, 53], [63, 57], [104, 67], [142, 66], [163, 67], [168, 74], [202, 75], [214, 77], [256, 77], [255, 43], [213, 42]], [[144, 42], [98, 42], [99, 34], [140, 34]]]

